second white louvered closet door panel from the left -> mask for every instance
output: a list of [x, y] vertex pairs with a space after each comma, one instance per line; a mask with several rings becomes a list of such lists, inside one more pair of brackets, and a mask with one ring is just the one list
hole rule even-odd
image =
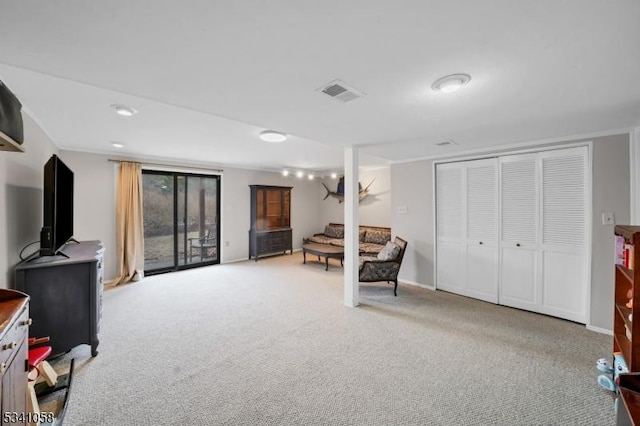
[[498, 160], [468, 161], [464, 294], [498, 303]]

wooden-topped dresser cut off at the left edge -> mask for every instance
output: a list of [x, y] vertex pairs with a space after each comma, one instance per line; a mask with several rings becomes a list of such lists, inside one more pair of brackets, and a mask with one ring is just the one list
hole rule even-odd
[[[11, 423], [11, 415], [27, 411], [29, 338], [29, 296], [15, 290], [0, 289], [0, 424]], [[8, 416], [5, 416], [5, 414]]]

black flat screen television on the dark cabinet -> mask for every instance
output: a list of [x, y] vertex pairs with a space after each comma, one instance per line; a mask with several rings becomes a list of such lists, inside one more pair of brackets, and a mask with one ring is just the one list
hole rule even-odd
[[44, 165], [40, 256], [53, 256], [73, 237], [73, 172], [53, 155]]

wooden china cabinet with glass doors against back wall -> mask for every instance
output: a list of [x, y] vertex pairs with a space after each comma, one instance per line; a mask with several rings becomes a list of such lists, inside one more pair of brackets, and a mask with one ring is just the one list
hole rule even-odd
[[290, 186], [249, 185], [251, 228], [249, 259], [268, 254], [293, 254]]

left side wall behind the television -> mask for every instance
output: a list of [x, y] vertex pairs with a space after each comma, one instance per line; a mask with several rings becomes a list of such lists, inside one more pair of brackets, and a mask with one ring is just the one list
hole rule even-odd
[[13, 268], [39, 247], [44, 164], [57, 153], [49, 137], [23, 115], [25, 152], [0, 151], [0, 287], [13, 285]]

